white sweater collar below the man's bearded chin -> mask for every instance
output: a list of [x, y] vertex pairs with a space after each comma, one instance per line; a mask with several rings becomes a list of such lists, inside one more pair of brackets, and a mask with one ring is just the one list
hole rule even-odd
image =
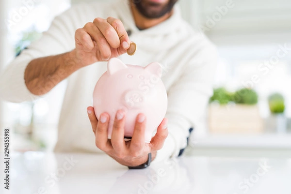
[[117, 12], [119, 19], [123, 22], [126, 30], [130, 30], [131, 33], [143, 33], [147, 35], [156, 35], [157, 31], [160, 35], [166, 35], [179, 28], [179, 21], [181, 21], [181, 14], [178, 4], [174, 6], [173, 15], [160, 24], [153, 26], [145, 30], [139, 30], [135, 26], [134, 18], [129, 7], [129, 0], [119, 0], [114, 4], [115, 11]]

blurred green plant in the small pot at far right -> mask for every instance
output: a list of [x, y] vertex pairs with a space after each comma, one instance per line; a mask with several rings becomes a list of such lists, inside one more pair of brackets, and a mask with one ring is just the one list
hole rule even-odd
[[268, 97], [269, 109], [271, 113], [283, 113], [285, 110], [284, 97], [279, 93], [273, 93]]

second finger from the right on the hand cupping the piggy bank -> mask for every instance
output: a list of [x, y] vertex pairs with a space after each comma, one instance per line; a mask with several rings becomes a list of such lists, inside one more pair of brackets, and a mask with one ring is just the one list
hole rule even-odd
[[130, 142], [130, 153], [140, 155], [145, 146], [146, 116], [138, 114], [135, 120], [134, 131]]

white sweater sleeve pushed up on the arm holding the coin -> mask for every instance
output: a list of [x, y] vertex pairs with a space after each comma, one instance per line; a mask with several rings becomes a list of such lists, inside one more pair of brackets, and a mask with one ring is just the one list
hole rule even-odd
[[72, 21], [72, 10], [57, 16], [49, 30], [16, 57], [0, 75], [0, 99], [20, 103], [32, 101], [33, 95], [26, 87], [24, 72], [33, 59], [57, 55], [74, 48], [74, 32], [76, 27]]

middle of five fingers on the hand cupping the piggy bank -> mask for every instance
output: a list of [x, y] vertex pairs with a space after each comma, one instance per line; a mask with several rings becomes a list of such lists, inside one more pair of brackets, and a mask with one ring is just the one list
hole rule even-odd
[[111, 135], [111, 144], [117, 154], [117, 157], [122, 158], [122, 154], [125, 152], [124, 141], [124, 124], [125, 124], [125, 112], [118, 110], [113, 123], [113, 130]]

